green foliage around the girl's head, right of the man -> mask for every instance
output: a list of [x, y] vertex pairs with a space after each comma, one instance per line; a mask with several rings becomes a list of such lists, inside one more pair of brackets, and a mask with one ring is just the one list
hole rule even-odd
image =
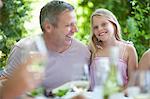
[[78, 0], [79, 33], [76, 37], [84, 43], [89, 41], [90, 15], [98, 8], [106, 8], [116, 15], [123, 39], [134, 43], [140, 59], [143, 52], [150, 48], [150, 1]]

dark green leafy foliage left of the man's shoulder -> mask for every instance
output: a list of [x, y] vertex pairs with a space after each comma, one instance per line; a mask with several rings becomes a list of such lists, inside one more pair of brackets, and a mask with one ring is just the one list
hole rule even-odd
[[30, 19], [29, 0], [3, 0], [0, 10], [0, 67], [4, 67], [10, 49], [19, 39], [27, 34], [24, 22]]

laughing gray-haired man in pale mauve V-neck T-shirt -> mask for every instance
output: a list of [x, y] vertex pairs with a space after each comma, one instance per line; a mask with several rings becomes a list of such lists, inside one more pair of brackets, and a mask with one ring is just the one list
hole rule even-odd
[[[37, 36], [44, 39], [49, 57], [43, 86], [49, 92], [78, 79], [83, 73], [82, 66], [89, 63], [90, 52], [85, 45], [72, 38], [77, 32], [72, 5], [56, 0], [47, 3], [40, 12], [40, 25], [43, 33]], [[30, 47], [35, 46], [33, 38], [25, 38], [14, 46], [3, 76], [11, 75], [16, 66], [24, 61], [27, 55], [22, 50], [27, 49], [26, 42], [31, 42]]]

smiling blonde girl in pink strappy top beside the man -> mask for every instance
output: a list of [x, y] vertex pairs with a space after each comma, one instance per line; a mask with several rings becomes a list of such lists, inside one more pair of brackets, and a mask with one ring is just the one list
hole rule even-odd
[[91, 28], [91, 87], [94, 87], [95, 63], [102, 57], [109, 57], [111, 46], [119, 47], [118, 69], [126, 86], [131, 73], [138, 66], [137, 53], [133, 44], [122, 40], [120, 25], [115, 15], [107, 9], [97, 9], [91, 15]]

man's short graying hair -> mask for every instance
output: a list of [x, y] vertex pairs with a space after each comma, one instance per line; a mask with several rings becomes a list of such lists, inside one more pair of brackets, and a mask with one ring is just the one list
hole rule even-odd
[[40, 11], [40, 26], [42, 31], [43, 24], [47, 20], [53, 26], [57, 26], [58, 16], [65, 10], [73, 11], [74, 7], [64, 1], [53, 0], [47, 3]]

